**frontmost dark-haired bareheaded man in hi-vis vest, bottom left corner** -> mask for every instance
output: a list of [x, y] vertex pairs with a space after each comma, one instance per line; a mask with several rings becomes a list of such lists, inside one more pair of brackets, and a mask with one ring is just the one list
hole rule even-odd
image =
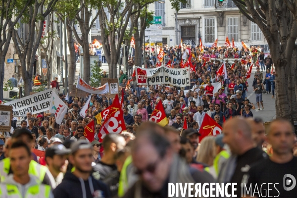
[[1, 198], [53, 198], [50, 186], [40, 184], [38, 178], [30, 174], [31, 151], [27, 144], [13, 143], [9, 157], [13, 174], [1, 181]]

